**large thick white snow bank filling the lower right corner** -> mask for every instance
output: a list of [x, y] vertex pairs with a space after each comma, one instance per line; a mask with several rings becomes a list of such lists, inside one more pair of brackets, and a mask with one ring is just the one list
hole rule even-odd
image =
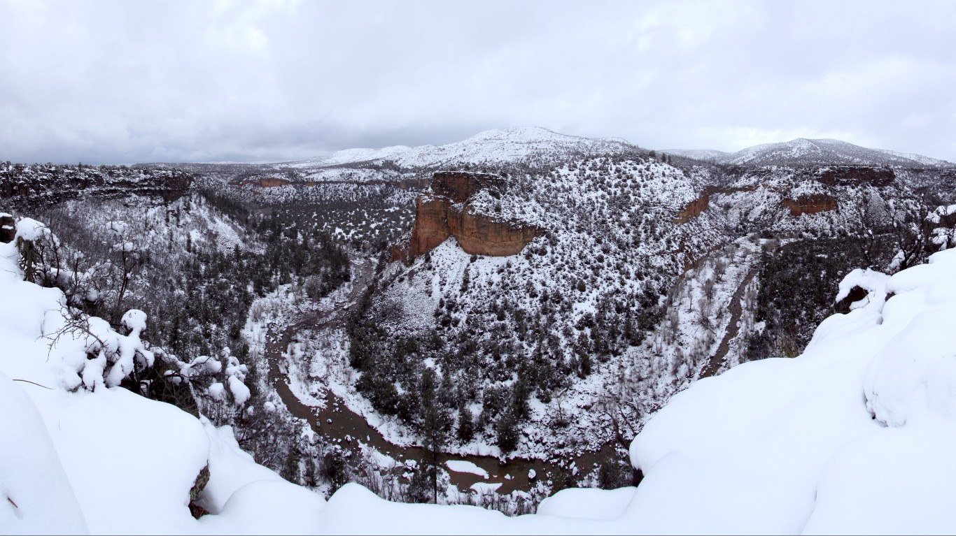
[[858, 273], [868, 302], [821, 323], [803, 355], [674, 397], [631, 445], [645, 479], [624, 518], [660, 532], [956, 530], [956, 462], [940, 446], [956, 436], [954, 275], [950, 251]]

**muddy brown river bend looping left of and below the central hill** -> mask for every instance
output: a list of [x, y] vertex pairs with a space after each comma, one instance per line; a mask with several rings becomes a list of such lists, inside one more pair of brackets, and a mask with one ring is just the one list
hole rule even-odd
[[[424, 449], [419, 446], [403, 447], [395, 445], [380, 434], [378, 430], [368, 424], [366, 419], [353, 412], [345, 402], [331, 391], [326, 391], [325, 407], [315, 407], [303, 403], [293, 394], [289, 387], [289, 377], [283, 370], [285, 363], [282, 354], [287, 352], [293, 335], [305, 330], [320, 330], [327, 327], [344, 327], [345, 319], [352, 307], [358, 302], [359, 296], [368, 287], [372, 279], [370, 263], [361, 267], [359, 274], [353, 281], [352, 291], [342, 307], [333, 311], [313, 311], [305, 314], [294, 324], [278, 328], [271, 326], [266, 342], [266, 357], [269, 361], [270, 381], [289, 411], [296, 418], [305, 419], [316, 434], [325, 440], [336, 442], [356, 454], [359, 453], [359, 441], [374, 447], [382, 454], [386, 454], [400, 463], [405, 460], [421, 460]], [[608, 457], [615, 456], [614, 443], [606, 443], [597, 452], [586, 452], [573, 460], [581, 474], [590, 472], [596, 463]], [[514, 490], [530, 491], [534, 482], [529, 479], [529, 471], [534, 470], [536, 478], [547, 480], [548, 473], [554, 473], [557, 467], [554, 464], [540, 460], [510, 459], [505, 464], [491, 456], [459, 456], [443, 454], [440, 463], [449, 460], [470, 461], [488, 472], [489, 477], [483, 478], [471, 473], [448, 471], [451, 483], [462, 492], [476, 482], [500, 484], [498, 493], [508, 494]], [[567, 463], [566, 463], [567, 465]]]

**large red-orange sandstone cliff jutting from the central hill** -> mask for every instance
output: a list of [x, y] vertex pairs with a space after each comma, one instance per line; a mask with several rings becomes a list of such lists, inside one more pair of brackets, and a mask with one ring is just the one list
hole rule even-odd
[[[537, 228], [468, 210], [472, 195], [500, 186], [501, 179], [494, 175], [436, 173], [431, 182], [432, 193], [422, 194], [416, 201], [408, 254], [422, 255], [449, 236], [455, 237], [467, 253], [475, 255], [504, 257], [521, 252], [537, 236]], [[400, 257], [393, 250], [392, 258]]]

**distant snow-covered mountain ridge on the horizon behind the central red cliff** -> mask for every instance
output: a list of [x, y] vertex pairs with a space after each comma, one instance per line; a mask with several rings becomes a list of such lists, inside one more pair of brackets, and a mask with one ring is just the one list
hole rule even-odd
[[446, 145], [382, 149], [346, 149], [328, 157], [301, 162], [301, 167], [323, 167], [366, 161], [394, 161], [402, 167], [434, 167], [447, 163], [522, 161], [571, 155], [620, 154], [636, 148], [625, 139], [590, 139], [558, 134], [541, 127], [487, 130]]

